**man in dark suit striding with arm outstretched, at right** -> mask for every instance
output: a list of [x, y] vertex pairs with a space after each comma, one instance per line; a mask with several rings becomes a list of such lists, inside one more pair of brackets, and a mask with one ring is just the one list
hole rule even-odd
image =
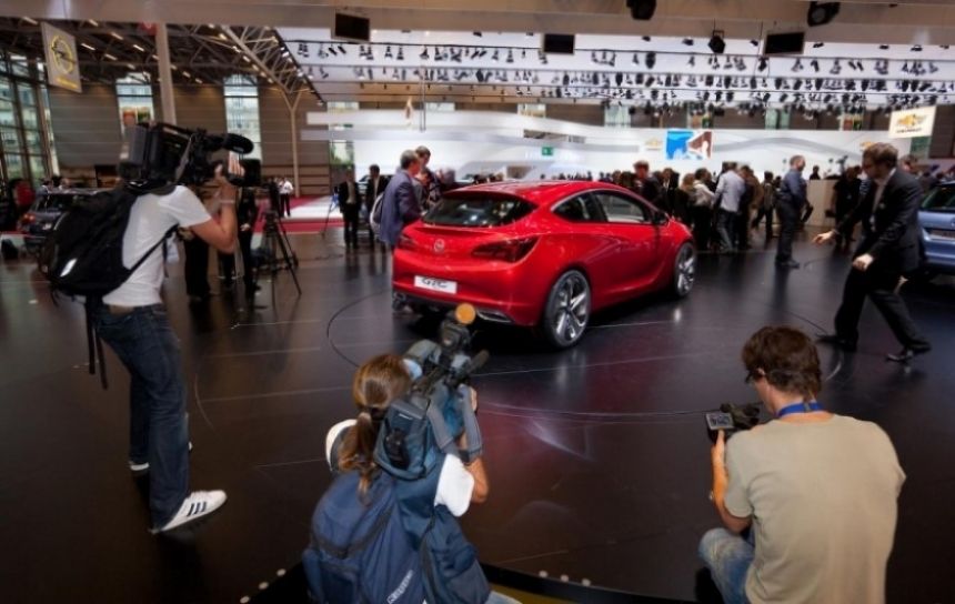
[[[865, 296], [888, 322], [895, 338], [902, 343], [898, 354], [888, 354], [889, 361], [907, 363], [916, 354], [932, 350], [908, 315], [905, 302], [898, 295], [903, 275], [918, 268], [918, 205], [922, 188], [918, 180], [896, 169], [898, 151], [887, 143], [873, 144], [865, 150], [862, 168], [872, 180], [866, 195], [843, 223], [861, 221], [862, 243], [855, 251], [852, 270], [846, 278], [842, 305], [835, 316], [835, 333], [821, 341], [854, 351], [858, 339], [858, 319]], [[832, 231], [816, 235], [816, 244], [838, 236], [841, 223]]]

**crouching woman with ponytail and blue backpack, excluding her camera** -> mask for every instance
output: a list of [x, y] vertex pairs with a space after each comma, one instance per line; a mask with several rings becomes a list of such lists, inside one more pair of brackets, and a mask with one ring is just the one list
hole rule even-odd
[[[354, 546], [361, 542], [363, 547], [374, 550], [362, 560], [373, 561], [366, 564], [375, 567], [364, 567], [355, 560], [356, 567], [349, 574], [351, 585], [368, 593], [382, 582], [395, 584], [392, 577], [403, 577], [398, 581], [399, 587], [394, 591], [389, 588], [382, 601], [398, 604], [406, 601], [421, 604], [422, 600], [464, 604], [513, 603], [513, 600], [490, 591], [474, 547], [455, 520], [468, 511], [472, 502], [481, 503], [487, 499], [483, 461], [479, 457], [464, 465], [460, 457], [448, 454], [432, 472], [415, 481], [395, 479], [374, 461], [375, 443], [389, 407], [408, 394], [411, 385], [411, 373], [404, 360], [395, 354], [375, 356], [355, 372], [352, 397], [358, 417], [333, 426], [325, 440], [331, 470], [340, 475], [322, 496], [312, 519], [312, 545], [303, 557], [312, 595], [319, 602], [350, 602], [351, 595], [342, 595], [341, 591], [336, 591], [338, 595], [330, 595], [323, 586], [342, 585], [339, 570], [343, 567], [343, 561], [334, 558], [333, 552], [346, 552], [356, 558], [361, 554], [353, 553]], [[473, 390], [471, 404], [476, 411], [478, 396]], [[462, 435], [459, 447], [466, 449], [466, 444]], [[382, 503], [385, 500], [386, 505]], [[375, 519], [369, 519], [369, 514], [389, 517], [382, 530], [383, 534], [389, 534], [388, 544], [382, 543], [384, 537], [362, 536], [362, 527], [379, 524]], [[393, 522], [399, 522], [402, 527], [402, 535], [413, 550], [410, 554], [402, 552], [400, 537], [393, 532], [388, 533]], [[341, 542], [335, 538], [338, 535], [350, 535], [350, 541]], [[329, 543], [333, 546], [323, 547]], [[411, 560], [413, 564], [401, 566], [401, 572], [393, 572], [398, 558]]]

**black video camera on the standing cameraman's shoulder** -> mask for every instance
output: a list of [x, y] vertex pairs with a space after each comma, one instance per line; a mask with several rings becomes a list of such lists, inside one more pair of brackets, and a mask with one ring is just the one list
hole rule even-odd
[[[210, 134], [161, 122], [141, 122], [128, 131], [128, 144], [120, 160], [120, 177], [131, 189], [149, 192], [174, 184], [202, 184], [212, 180], [215, 168], [228, 165], [213, 160], [217, 151], [250, 153], [252, 141], [239, 134]], [[260, 187], [259, 160], [240, 160], [244, 174], [227, 174], [235, 187]]]

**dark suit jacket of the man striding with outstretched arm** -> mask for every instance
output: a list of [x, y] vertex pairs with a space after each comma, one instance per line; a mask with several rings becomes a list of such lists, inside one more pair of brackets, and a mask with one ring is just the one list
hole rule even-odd
[[868, 188], [855, 209], [840, 228], [862, 222], [863, 238], [855, 255], [871, 254], [875, 261], [869, 270], [907, 273], [918, 268], [918, 207], [922, 187], [912, 174], [896, 169], [885, 184], [885, 191], [873, 213], [878, 187]]

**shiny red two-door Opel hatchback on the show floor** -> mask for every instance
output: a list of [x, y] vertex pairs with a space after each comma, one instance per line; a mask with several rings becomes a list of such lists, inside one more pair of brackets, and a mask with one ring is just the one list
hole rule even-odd
[[645, 292], [693, 288], [683, 224], [613, 184], [514, 182], [449, 192], [394, 252], [396, 303], [470, 302], [485, 321], [536, 326], [566, 348], [591, 313]]

